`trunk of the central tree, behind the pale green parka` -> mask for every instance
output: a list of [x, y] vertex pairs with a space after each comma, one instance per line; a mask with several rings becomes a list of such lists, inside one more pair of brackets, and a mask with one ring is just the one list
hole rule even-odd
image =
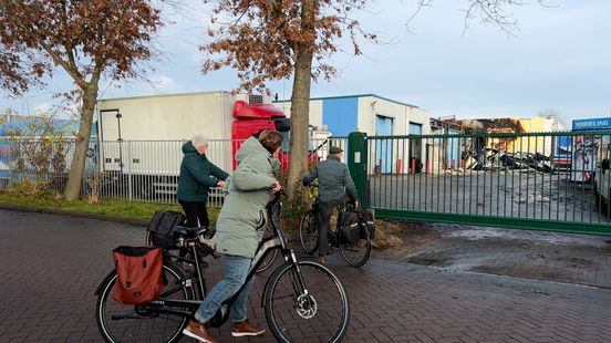
[[[304, 31], [313, 30], [314, 8], [314, 0], [302, 1], [301, 19]], [[287, 177], [287, 195], [290, 204], [296, 201], [297, 188], [301, 187], [300, 178], [308, 168], [308, 125], [310, 122], [312, 56], [312, 46], [308, 46], [308, 44], [297, 46], [297, 61], [291, 94], [291, 154], [289, 175]]]

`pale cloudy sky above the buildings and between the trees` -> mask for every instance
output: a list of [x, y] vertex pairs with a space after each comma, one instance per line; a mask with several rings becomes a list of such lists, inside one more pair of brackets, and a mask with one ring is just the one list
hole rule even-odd
[[[535, 0], [532, 0], [535, 2]], [[515, 37], [493, 25], [472, 21], [464, 31], [466, 1], [435, 1], [405, 23], [413, 0], [369, 1], [360, 13], [365, 30], [381, 34], [382, 44], [363, 43], [364, 55], [352, 56], [350, 45], [333, 56], [341, 75], [312, 85], [312, 96], [374, 93], [428, 110], [431, 116], [530, 117], [553, 110], [567, 122], [611, 115], [611, 1], [546, 0], [511, 10], [518, 20]], [[197, 45], [206, 27], [194, 7], [165, 28], [158, 46], [166, 52], [149, 77], [157, 83], [103, 84], [101, 97], [229, 91], [235, 71], [199, 72], [205, 59]], [[49, 87], [22, 98], [2, 93], [0, 111], [20, 113], [49, 106], [51, 94], [70, 82], [58, 72]], [[289, 98], [291, 81], [270, 84]], [[569, 123], [567, 123], [569, 124]]]

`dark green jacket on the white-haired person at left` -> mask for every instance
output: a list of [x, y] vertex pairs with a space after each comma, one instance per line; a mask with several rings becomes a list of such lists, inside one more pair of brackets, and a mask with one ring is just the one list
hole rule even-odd
[[183, 145], [183, 154], [176, 198], [180, 201], [206, 202], [208, 189], [216, 187], [218, 180], [227, 179], [229, 174], [209, 162], [206, 154], [200, 155], [190, 142]]

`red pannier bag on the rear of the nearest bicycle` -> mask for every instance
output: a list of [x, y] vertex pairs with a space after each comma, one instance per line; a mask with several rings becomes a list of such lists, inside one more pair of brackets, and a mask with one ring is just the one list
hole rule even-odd
[[156, 247], [121, 246], [113, 250], [116, 283], [113, 298], [124, 304], [147, 303], [164, 289], [163, 250]]

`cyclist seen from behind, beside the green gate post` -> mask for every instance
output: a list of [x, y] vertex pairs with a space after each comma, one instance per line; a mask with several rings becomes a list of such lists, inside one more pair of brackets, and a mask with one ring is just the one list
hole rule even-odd
[[356, 187], [350, 176], [348, 166], [341, 162], [343, 150], [340, 147], [332, 146], [329, 149], [329, 156], [320, 162], [303, 178], [303, 185], [307, 186], [318, 178], [321, 226], [319, 228], [319, 261], [324, 262], [324, 256], [328, 251], [329, 221], [333, 206], [345, 204], [346, 200], [359, 205]]

